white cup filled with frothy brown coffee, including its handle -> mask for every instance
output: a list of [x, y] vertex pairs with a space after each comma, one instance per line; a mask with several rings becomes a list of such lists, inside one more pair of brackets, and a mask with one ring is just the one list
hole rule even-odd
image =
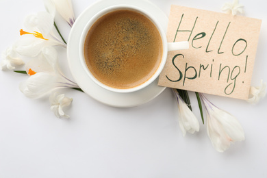
[[160, 23], [145, 10], [114, 5], [88, 21], [79, 55], [96, 84], [112, 92], [134, 92], [160, 75], [168, 49], [188, 49], [188, 42], [168, 43]]

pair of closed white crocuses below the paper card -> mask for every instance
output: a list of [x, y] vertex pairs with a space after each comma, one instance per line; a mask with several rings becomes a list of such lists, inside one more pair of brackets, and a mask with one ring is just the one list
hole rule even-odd
[[[178, 103], [179, 111], [179, 126], [186, 136], [186, 132], [194, 133], [199, 131], [199, 121], [189, 109], [188, 105], [181, 99], [179, 92], [173, 89]], [[220, 110], [216, 105], [212, 104], [204, 94], [199, 93], [202, 103], [205, 106], [207, 116], [207, 135], [212, 141], [212, 145], [218, 152], [224, 152], [229, 149], [231, 143], [244, 140], [244, 130], [238, 120], [225, 112]]]

